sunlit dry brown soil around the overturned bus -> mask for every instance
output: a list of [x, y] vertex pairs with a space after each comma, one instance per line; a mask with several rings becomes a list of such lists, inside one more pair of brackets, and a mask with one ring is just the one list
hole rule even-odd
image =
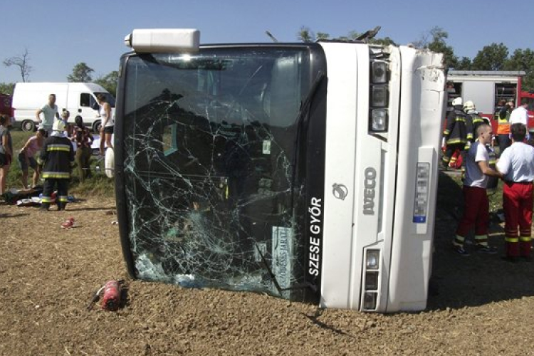
[[[0, 355], [534, 355], [534, 263], [456, 256], [448, 199], [428, 308], [392, 315], [132, 281], [114, 201], [48, 212], [0, 202]], [[76, 227], [61, 229], [68, 216]], [[502, 252], [502, 226], [491, 229]], [[112, 278], [125, 279], [125, 305], [87, 310]]]

